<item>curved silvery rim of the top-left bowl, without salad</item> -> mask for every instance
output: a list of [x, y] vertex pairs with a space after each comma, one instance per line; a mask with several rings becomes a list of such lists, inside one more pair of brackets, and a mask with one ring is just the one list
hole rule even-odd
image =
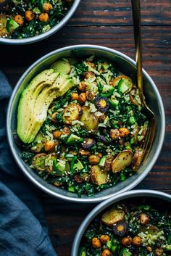
[[78, 4], [80, 4], [80, 0], [75, 0], [72, 4], [72, 7], [70, 7], [69, 11], [64, 16], [64, 18], [62, 20], [60, 20], [57, 25], [55, 25], [53, 28], [51, 28], [46, 33], [42, 33], [41, 35], [38, 35], [38, 36], [33, 36], [30, 38], [23, 38], [23, 39], [0, 38], [0, 44], [12, 44], [12, 45], [13, 44], [15, 44], [15, 45], [32, 44], [32, 43], [41, 41], [41, 40], [53, 35], [59, 29], [61, 29], [65, 25], [65, 23], [68, 22], [68, 20], [70, 20], [70, 17], [72, 17], [75, 10], [78, 8]]

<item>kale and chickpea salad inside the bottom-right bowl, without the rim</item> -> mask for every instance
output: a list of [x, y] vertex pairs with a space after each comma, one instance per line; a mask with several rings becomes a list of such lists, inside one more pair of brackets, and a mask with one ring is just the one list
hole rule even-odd
[[170, 256], [171, 215], [150, 205], [114, 205], [95, 218], [78, 256]]

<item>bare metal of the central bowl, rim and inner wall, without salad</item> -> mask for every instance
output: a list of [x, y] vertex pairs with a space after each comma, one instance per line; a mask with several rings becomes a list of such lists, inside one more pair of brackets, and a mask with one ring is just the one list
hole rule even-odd
[[[120, 53], [119, 51], [114, 51], [112, 49], [103, 47], [103, 46], [93, 46], [93, 45], [77, 45], [69, 46], [56, 51], [52, 51], [49, 54], [46, 54], [41, 59], [38, 59], [33, 65], [31, 65], [28, 70], [22, 75], [17, 85], [14, 88], [12, 93], [8, 112], [7, 112], [7, 136], [9, 140], [9, 146], [14, 155], [14, 159], [21, 168], [22, 172], [25, 173], [25, 176], [28, 177], [38, 188], [43, 191], [51, 194], [54, 197], [65, 199], [72, 202], [101, 202], [104, 199], [112, 197], [113, 195], [119, 194], [124, 191], [133, 189], [138, 183], [140, 183], [143, 178], [149, 173], [154, 163], [159, 157], [159, 152], [162, 149], [162, 144], [164, 140], [164, 131], [165, 131], [165, 118], [164, 118], [164, 107], [162, 104], [162, 99], [155, 86], [154, 81], [151, 77], [143, 70], [143, 81], [144, 81], [144, 92], [146, 94], [146, 101], [149, 104], [151, 110], [157, 117], [157, 130], [154, 136], [154, 142], [151, 146], [149, 156], [146, 159], [146, 162], [141, 166], [137, 173], [134, 176], [128, 178], [125, 181], [117, 183], [116, 186], [105, 189], [95, 194], [93, 197], [88, 197], [83, 195], [83, 197], [78, 198], [77, 194], [70, 193], [64, 189], [57, 188], [49, 183], [46, 183], [42, 178], [40, 178], [36, 173], [21, 160], [21, 150], [14, 144], [13, 132], [16, 129], [17, 125], [17, 104], [20, 99], [20, 94], [28, 85], [30, 80], [35, 77], [42, 70], [51, 65], [52, 62], [61, 58], [61, 57], [88, 57], [92, 54], [95, 54], [96, 57], [104, 57], [113, 60], [117, 67], [126, 75], [135, 74], [135, 62], [133, 59], [130, 59], [125, 54]], [[25, 111], [25, 110], [23, 110]]]

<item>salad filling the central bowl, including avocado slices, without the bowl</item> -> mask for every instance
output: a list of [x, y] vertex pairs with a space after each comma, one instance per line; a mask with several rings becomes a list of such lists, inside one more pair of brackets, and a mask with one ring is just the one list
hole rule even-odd
[[22, 91], [16, 143], [38, 176], [78, 197], [138, 170], [148, 131], [138, 89], [106, 59], [59, 59]]

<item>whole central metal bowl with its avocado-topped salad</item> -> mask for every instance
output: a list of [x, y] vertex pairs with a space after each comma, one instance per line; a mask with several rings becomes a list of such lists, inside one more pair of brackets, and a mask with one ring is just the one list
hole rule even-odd
[[22, 75], [9, 102], [7, 132], [18, 165], [43, 191], [75, 202], [100, 202], [136, 186], [157, 160], [164, 110], [143, 70], [146, 102], [157, 117], [149, 156], [135, 62], [102, 46], [47, 54]]

